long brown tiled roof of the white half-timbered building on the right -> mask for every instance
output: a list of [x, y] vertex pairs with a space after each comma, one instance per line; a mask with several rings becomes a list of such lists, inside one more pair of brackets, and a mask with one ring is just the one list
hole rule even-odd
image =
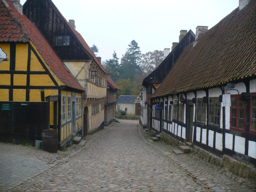
[[256, 1], [237, 8], [190, 44], [152, 95], [224, 85], [256, 75]]

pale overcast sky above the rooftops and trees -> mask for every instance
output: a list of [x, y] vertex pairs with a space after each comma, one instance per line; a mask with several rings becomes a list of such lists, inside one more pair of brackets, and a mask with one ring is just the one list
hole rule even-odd
[[[135, 40], [143, 53], [171, 48], [180, 30], [216, 25], [239, 0], [52, 0], [62, 15], [76, 22], [90, 47], [97, 45], [102, 61], [119, 59]], [[26, 0], [21, 0], [21, 5]]]

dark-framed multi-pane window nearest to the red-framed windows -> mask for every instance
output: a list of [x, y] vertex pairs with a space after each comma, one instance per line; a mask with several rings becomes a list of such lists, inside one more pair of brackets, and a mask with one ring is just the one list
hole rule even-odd
[[219, 97], [209, 98], [209, 124], [220, 126], [220, 101]]

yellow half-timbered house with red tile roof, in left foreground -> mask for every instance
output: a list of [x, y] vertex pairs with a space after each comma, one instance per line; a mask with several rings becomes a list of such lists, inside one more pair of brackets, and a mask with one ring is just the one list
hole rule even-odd
[[84, 88], [22, 6], [0, 0], [0, 12], [0, 141], [34, 144], [55, 129], [59, 146], [70, 145], [82, 127]]

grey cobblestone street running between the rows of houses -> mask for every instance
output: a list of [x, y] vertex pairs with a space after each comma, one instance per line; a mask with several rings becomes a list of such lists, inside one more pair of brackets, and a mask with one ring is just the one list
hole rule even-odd
[[148, 138], [138, 121], [121, 120], [57, 154], [0, 143], [0, 191], [256, 191], [252, 180]]

